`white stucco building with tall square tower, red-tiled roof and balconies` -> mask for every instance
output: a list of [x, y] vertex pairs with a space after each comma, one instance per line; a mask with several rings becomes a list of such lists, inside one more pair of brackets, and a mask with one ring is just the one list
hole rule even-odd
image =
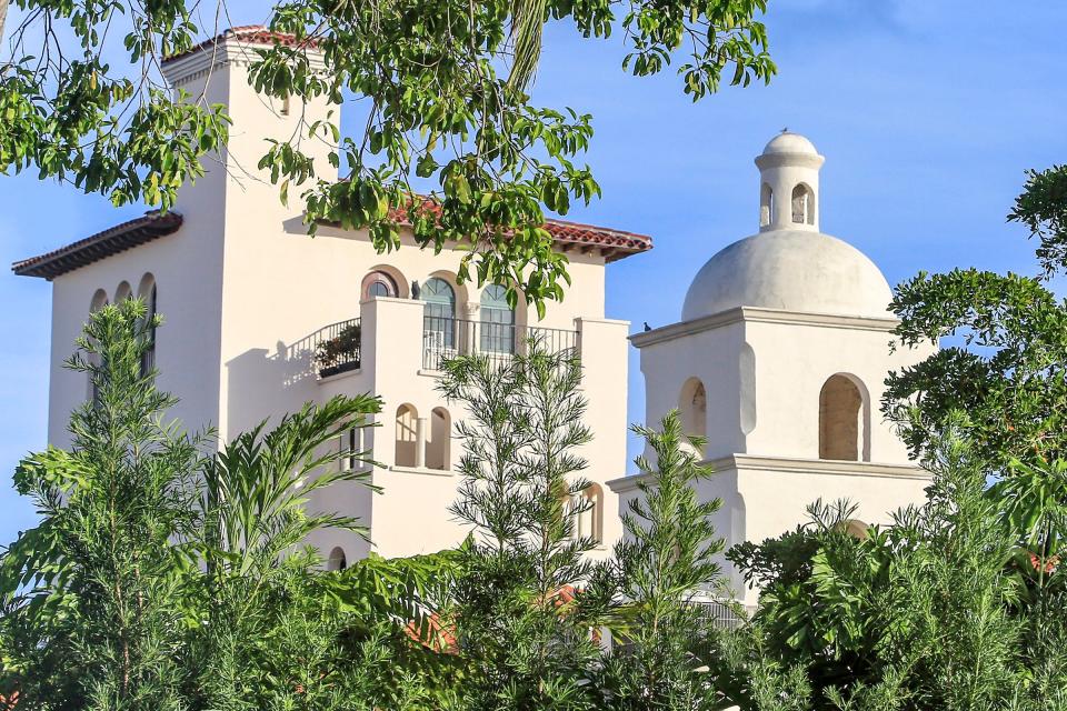
[[[276, 39], [262, 28], [240, 28], [164, 63], [171, 86], [227, 104], [233, 120], [223, 161], [207, 164], [205, 177], [185, 186], [172, 212], [147, 214], [14, 264], [17, 273], [52, 283], [49, 441], [69, 443], [69, 413], [89, 397], [84, 373], [62, 362], [90, 310], [139, 294], [166, 320], [154, 352], [159, 387], [181, 399], [172, 414], [191, 429], [212, 424], [225, 440], [305, 402], [339, 393], [380, 395], [385, 405], [372, 439], [339, 445], [372, 448], [385, 465], [373, 483], [385, 493], [345, 484], [320, 503], [360, 517], [383, 555], [438, 551], [465, 535], [447, 511], [459, 483], [452, 425], [463, 412], [435, 390], [440, 360], [475, 350], [507, 358], [538, 332], [549, 346], [577, 348], [584, 362], [595, 364], [582, 383], [595, 434], [584, 452], [590, 464], [584, 475], [594, 482], [589, 495], [598, 510], [582, 525], [607, 550], [620, 531], [617, 517], [604, 515], [618, 508], [605, 483], [626, 470], [620, 383], [627, 379], [629, 328], [605, 318], [605, 269], [650, 249], [651, 240], [549, 222], [557, 249], [570, 260], [572, 284], [538, 321], [525, 306], [509, 309], [499, 287], [459, 284], [456, 272], [466, 252], [435, 256], [407, 233], [400, 250], [378, 254], [365, 231], [328, 226], [309, 238], [301, 213], [283, 207], [278, 189], [255, 169], [268, 148], [265, 139], [287, 140], [301, 116], [311, 122], [328, 111], [325, 102], [272, 102], [248, 84], [253, 48]], [[320, 151], [317, 170], [328, 177], [325, 148], [309, 150]], [[323, 343], [330, 342], [335, 348], [326, 353]], [[337, 531], [312, 542], [335, 562], [368, 550]]]

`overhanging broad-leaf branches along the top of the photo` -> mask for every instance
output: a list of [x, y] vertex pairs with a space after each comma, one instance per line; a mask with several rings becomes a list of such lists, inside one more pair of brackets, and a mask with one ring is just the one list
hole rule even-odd
[[[0, 59], [0, 171], [36, 168], [116, 204], [172, 206], [226, 144], [229, 120], [202, 97], [173, 97], [159, 68], [223, 29], [217, 1], [16, 0], [11, 53]], [[310, 230], [319, 220], [367, 228], [385, 251], [407, 221], [422, 246], [470, 248], [461, 279], [515, 284], [540, 309], [566, 279], [542, 209], [565, 214], [600, 194], [579, 161], [591, 117], [528, 93], [545, 24], [620, 34], [627, 71], [674, 64], [696, 100], [724, 83], [769, 81], [765, 10], [766, 0], [282, 0], [270, 28], [296, 41], [260, 52], [255, 86], [351, 103], [360, 120], [352, 134], [336, 113], [301, 120], [289, 140], [265, 142], [260, 167], [283, 194], [299, 187]], [[202, 17], [213, 27], [198, 26]], [[309, 140], [330, 144], [341, 180], [316, 172], [300, 150]]]

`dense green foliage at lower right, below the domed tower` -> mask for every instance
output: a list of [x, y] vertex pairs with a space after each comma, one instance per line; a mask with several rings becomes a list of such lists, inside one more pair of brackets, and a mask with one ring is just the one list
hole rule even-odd
[[[1020, 605], [1013, 531], [974, 452], [955, 434], [936, 442], [927, 503], [888, 529], [856, 537], [841, 525], [847, 508], [820, 507], [809, 525], [731, 553], [767, 585], [754, 618], [759, 653], [778, 663], [782, 689], [797, 688], [784, 670], [802, 670], [804, 708], [1067, 702], [1063, 652], [1048, 647], [1063, 628], [1048, 625], [1047, 607]], [[1053, 604], [1061, 612], [1061, 599]], [[746, 695], [742, 708], [779, 708]]]

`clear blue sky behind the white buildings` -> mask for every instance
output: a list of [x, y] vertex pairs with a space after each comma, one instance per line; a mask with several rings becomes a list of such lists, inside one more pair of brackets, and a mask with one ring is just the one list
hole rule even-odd
[[[263, 19], [262, 10], [230, 8], [236, 24]], [[1005, 216], [1026, 169], [1067, 161], [1067, 4], [771, 0], [767, 22], [779, 68], [771, 86], [726, 89], [697, 104], [670, 72], [624, 73], [619, 38], [587, 41], [550, 28], [535, 98], [594, 114], [588, 161], [604, 189], [567, 219], [656, 239], [652, 252], [609, 268], [608, 316], [635, 328], [678, 319], [700, 266], [756, 231], [752, 158], [784, 127], [826, 156], [822, 230], [864, 250], [890, 283], [957, 266], [1034, 271], [1025, 232]], [[0, 261], [140, 211], [32, 174], [0, 178]], [[0, 299], [3, 542], [33, 521], [9, 482], [18, 460], [44, 445], [50, 287], [6, 271]], [[637, 421], [636, 353], [630, 370]]]

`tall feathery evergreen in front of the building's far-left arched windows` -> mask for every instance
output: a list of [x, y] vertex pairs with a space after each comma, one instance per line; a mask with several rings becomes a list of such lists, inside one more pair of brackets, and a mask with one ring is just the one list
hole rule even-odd
[[41, 517], [0, 561], [4, 681], [20, 708], [187, 708], [176, 659], [200, 441], [163, 422], [174, 400], [142, 371], [157, 320], [137, 301], [92, 316], [68, 361], [93, 394], [71, 417], [73, 447], [16, 472]]

